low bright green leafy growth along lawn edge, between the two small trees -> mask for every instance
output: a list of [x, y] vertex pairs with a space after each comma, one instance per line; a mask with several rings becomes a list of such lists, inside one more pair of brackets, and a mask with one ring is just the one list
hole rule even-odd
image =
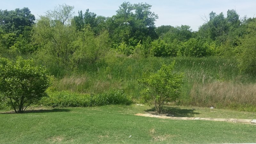
[[122, 90], [109, 89], [101, 94], [81, 94], [75, 92], [48, 92], [40, 103], [51, 107], [93, 107], [103, 105], [130, 105], [131, 97]]

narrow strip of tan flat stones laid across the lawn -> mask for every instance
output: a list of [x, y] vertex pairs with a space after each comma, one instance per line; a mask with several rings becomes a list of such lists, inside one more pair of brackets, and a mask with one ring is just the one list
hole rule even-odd
[[209, 120], [234, 123], [256, 124], [256, 119], [236, 119], [236, 118], [202, 118], [202, 117], [174, 117], [174, 116], [157, 116], [150, 114], [136, 114], [136, 116], [157, 117], [164, 119], [181, 119], [181, 120]]

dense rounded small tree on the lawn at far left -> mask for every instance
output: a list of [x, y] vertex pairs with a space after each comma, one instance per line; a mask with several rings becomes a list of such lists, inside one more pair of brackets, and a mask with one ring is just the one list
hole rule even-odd
[[16, 113], [24, 112], [30, 104], [45, 96], [52, 78], [45, 68], [36, 67], [33, 60], [0, 58], [0, 94]]

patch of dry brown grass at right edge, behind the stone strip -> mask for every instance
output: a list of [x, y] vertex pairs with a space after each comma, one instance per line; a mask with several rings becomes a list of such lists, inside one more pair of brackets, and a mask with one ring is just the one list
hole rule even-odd
[[199, 106], [228, 106], [249, 104], [256, 106], [256, 84], [212, 82], [194, 84], [190, 92], [191, 103]]

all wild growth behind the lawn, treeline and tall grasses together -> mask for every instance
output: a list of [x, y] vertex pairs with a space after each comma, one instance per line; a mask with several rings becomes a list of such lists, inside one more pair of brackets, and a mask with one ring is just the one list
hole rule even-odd
[[73, 9], [58, 5], [36, 22], [28, 8], [0, 10], [0, 56], [33, 58], [56, 78], [45, 105], [93, 106], [85, 102], [92, 93], [95, 101], [102, 97], [95, 105], [105, 105], [111, 102], [104, 92], [117, 89], [138, 101], [142, 74], [176, 60], [174, 72], [184, 73], [179, 104], [255, 109], [255, 18], [211, 12], [192, 31], [187, 25], [156, 28], [158, 16], [146, 3], [124, 2], [112, 17], [89, 9], [74, 16]]

